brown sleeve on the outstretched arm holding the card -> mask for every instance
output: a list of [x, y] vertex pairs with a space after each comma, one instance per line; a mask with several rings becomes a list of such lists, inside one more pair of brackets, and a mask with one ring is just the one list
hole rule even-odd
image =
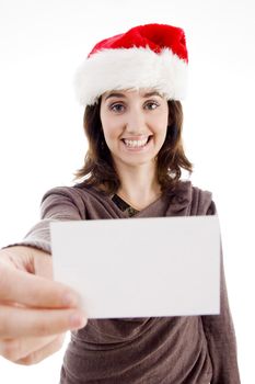
[[51, 253], [50, 222], [85, 218], [84, 203], [74, 188], [55, 188], [42, 201], [40, 221], [14, 246], [28, 246]]

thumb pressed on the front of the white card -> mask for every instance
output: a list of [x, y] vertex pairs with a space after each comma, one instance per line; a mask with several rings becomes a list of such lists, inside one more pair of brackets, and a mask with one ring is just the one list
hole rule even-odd
[[78, 293], [70, 287], [3, 263], [0, 263], [0, 301], [43, 308], [80, 305]]

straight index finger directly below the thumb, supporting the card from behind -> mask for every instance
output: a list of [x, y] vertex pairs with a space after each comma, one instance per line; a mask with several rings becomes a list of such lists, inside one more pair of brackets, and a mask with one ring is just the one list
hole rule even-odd
[[86, 317], [79, 309], [0, 307], [0, 339], [57, 335], [85, 324]]

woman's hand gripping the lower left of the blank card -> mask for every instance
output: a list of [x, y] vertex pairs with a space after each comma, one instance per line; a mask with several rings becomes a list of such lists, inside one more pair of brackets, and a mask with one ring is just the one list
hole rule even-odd
[[58, 351], [86, 318], [70, 287], [53, 280], [51, 257], [31, 247], [0, 250], [0, 354], [34, 364]]

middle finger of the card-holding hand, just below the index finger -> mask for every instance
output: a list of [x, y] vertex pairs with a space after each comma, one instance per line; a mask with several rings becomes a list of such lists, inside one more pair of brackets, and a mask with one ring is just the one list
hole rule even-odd
[[[60, 340], [60, 335], [57, 337]], [[43, 349], [51, 343], [57, 337], [54, 335], [48, 337], [22, 337], [18, 339], [2, 340], [0, 342], [0, 354], [12, 362], [15, 362]], [[65, 334], [61, 335], [61, 340], [63, 341], [63, 339]]]

